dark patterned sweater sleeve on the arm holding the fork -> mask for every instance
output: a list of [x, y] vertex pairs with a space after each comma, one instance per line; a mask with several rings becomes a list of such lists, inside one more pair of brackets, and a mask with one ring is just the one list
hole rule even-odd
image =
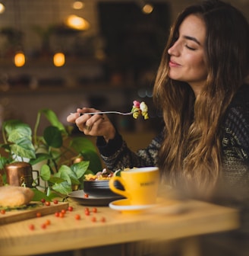
[[159, 133], [146, 149], [132, 152], [117, 131], [115, 138], [110, 139], [108, 143], [103, 137], [98, 137], [96, 146], [106, 167], [109, 170], [116, 171], [124, 168], [156, 166], [162, 139], [163, 132]]

